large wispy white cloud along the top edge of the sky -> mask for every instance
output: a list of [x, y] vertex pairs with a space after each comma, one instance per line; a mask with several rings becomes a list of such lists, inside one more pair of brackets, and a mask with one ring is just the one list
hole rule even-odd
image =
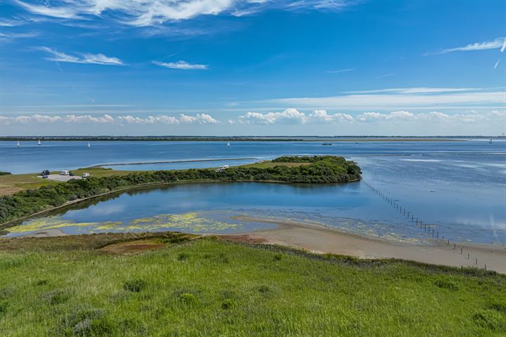
[[85, 20], [100, 16], [124, 25], [157, 26], [167, 21], [188, 20], [200, 15], [252, 15], [266, 9], [294, 11], [338, 11], [349, 6], [344, 0], [76, 0], [61, 1], [58, 6], [15, 0], [15, 4], [32, 14], [65, 20]]

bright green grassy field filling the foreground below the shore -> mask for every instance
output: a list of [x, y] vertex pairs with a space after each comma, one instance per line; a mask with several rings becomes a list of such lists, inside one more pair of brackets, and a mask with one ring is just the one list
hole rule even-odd
[[133, 238], [115, 235], [1, 239], [1, 335], [506, 333], [504, 275], [173, 234], [138, 255], [96, 250]]

